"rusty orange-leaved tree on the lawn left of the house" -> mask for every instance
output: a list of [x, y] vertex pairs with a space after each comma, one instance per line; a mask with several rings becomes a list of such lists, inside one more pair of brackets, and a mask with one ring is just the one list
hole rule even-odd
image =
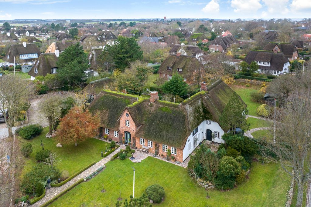
[[83, 112], [81, 107], [75, 106], [68, 114], [60, 119], [58, 140], [64, 144], [83, 142], [94, 137], [100, 124], [98, 115], [92, 115], [89, 110]]

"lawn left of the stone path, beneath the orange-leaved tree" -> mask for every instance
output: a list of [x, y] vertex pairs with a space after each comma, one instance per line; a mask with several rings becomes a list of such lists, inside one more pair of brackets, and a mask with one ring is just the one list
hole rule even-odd
[[60, 169], [61, 172], [63, 170], [67, 170], [69, 172], [69, 176], [86, 167], [93, 161], [98, 162], [101, 160], [101, 151], [105, 151], [106, 144], [109, 144], [95, 138], [90, 138], [85, 142], [78, 143], [78, 146], [74, 146], [74, 144], [72, 144], [63, 145], [63, 147], [56, 147], [58, 141], [55, 137], [45, 138], [45, 135], [48, 133], [48, 131], [49, 127], [44, 127], [43, 132], [31, 140], [26, 140], [20, 137], [22, 142], [30, 142], [33, 148], [33, 152], [30, 154], [30, 156], [25, 158], [25, 166], [21, 176], [25, 175], [26, 172], [29, 172], [32, 167], [37, 164], [35, 159], [35, 152], [42, 149], [41, 140], [43, 142], [44, 149], [49, 149], [52, 152], [57, 153], [58, 158], [60, 158], [62, 161], [57, 163], [56, 166]]

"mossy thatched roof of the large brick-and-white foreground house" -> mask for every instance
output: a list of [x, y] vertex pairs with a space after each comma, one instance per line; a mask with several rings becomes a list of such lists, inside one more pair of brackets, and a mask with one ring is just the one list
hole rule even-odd
[[180, 104], [158, 100], [151, 103], [145, 97], [139, 97], [131, 104], [135, 96], [103, 90], [90, 105], [90, 111], [100, 112], [103, 127], [120, 130], [119, 118], [127, 109], [137, 127], [135, 137], [182, 149], [193, 129], [204, 120], [219, 122], [220, 114], [233, 92], [227, 84], [218, 80], [207, 91], [198, 92]]

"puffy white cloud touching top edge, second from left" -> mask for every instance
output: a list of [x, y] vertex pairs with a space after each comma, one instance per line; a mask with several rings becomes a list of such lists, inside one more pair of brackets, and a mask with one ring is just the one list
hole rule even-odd
[[260, 0], [231, 0], [234, 12], [255, 13], [262, 7]]

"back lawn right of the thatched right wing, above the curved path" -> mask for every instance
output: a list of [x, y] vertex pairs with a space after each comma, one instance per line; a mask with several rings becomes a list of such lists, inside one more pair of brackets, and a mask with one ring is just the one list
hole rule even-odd
[[258, 88], [256, 86], [251, 86], [248, 88], [241, 84], [233, 84], [230, 87], [242, 98], [242, 100], [247, 105], [248, 115], [258, 116], [257, 107], [261, 104], [251, 101], [250, 94], [254, 91], [258, 91], [260, 87]]

